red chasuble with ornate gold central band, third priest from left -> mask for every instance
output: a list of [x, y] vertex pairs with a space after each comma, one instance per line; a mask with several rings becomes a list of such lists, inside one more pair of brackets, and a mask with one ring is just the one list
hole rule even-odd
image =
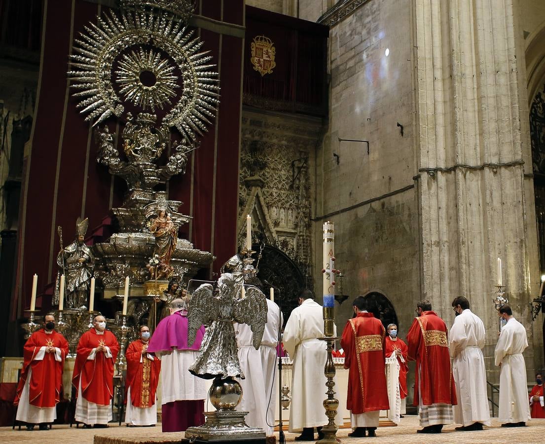
[[[127, 359], [127, 377], [125, 384], [126, 394], [131, 388], [131, 404], [135, 407], [147, 408], [155, 404], [155, 391], [159, 383], [159, 371], [161, 361], [153, 355], [153, 361], [148, 358], [148, 353], [142, 355], [144, 343], [138, 339], [130, 343], [125, 357]], [[140, 362], [142, 358], [142, 362]]]

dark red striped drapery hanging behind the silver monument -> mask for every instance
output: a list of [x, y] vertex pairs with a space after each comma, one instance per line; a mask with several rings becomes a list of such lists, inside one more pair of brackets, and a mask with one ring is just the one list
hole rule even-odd
[[[77, 217], [89, 218], [90, 231], [101, 224], [112, 206], [123, 201], [125, 184], [96, 163], [92, 130], [76, 109], [77, 100], [69, 94], [66, 81], [72, 40], [105, 9], [83, 0], [76, 0], [73, 8], [70, 0], [44, 2], [39, 92], [31, 151], [25, 160], [27, 181], [22, 191], [11, 319], [28, 308], [34, 273], [38, 274], [39, 292], [54, 279], [57, 226], [63, 227], [68, 244], [74, 240]], [[244, 25], [244, 0], [207, 0], [196, 13]], [[180, 210], [193, 217], [191, 227], [182, 227], [181, 233], [195, 248], [217, 257], [213, 265], [217, 271], [235, 253], [243, 39], [198, 31], [204, 41], [202, 50], [211, 51], [218, 65], [221, 103], [186, 174], [171, 179], [168, 193], [169, 199], [183, 201]], [[110, 122], [110, 129], [116, 130], [115, 122]]]

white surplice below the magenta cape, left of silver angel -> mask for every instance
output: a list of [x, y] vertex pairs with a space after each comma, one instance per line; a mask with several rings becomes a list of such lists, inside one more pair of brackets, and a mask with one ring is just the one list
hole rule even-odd
[[173, 401], [207, 399], [209, 384], [189, 373], [198, 350], [178, 350], [156, 353], [161, 355], [161, 404]]

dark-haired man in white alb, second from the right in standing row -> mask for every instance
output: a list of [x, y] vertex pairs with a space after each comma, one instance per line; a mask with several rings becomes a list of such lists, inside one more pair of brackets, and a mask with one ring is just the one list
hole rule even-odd
[[462, 424], [458, 431], [482, 430], [490, 425], [486, 390], [485, 324], [469, 309], [469, 301], [458, 296], [452, 301], [456, 317], [449, 333], [452, 376], [456, 383], [454, 422]]

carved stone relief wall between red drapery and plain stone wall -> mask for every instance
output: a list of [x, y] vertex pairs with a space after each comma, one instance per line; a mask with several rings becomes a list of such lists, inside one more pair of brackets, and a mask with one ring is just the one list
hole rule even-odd
[[239, 184], [239, 238], [245, 217], [253, 217], [252, 240], [280, 249], [311, 286], [310, 211], [313, 199], [309, 166], [321, 122], [244, 111]]

